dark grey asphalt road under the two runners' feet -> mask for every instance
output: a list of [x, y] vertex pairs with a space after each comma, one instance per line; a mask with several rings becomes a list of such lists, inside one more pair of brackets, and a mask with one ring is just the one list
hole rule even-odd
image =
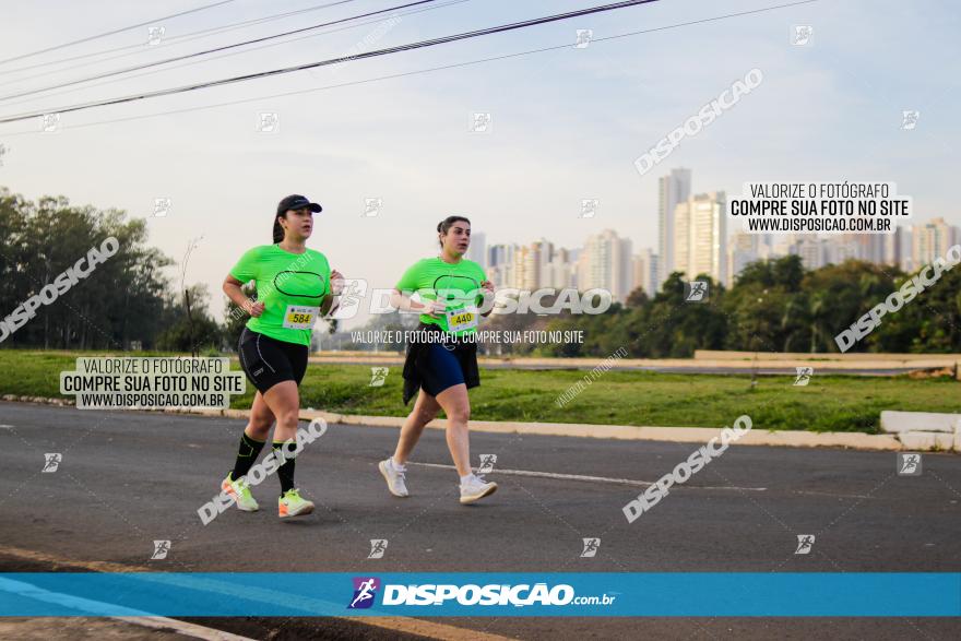
[[[719, 426], [734, 418], [719, 417]], [[892, 452], [733, 447], [629, 524], [621, 507], [643, 486], [615, 479], [653, 482], [691, 444], [474, 434], [475, 462], [493, 453], [497, 468], [524, 474], [495, 471], [498, 492], [464, 507], [454, 471], [434, 466], [450, 464], [441, 431], [425, 432], [404, 500], [388, 495], [376, 468], [396, 429], [332, 426], [297, 462], [298, 486], [317, 513], [278, 521], [277, 483], [268, 478], [253, 490], [260, 512], [232, 509], [203, 526], [197, 509], [218, 491], [242, 427], [0, 403], [0, 550], [158, 571], [961, 571], [961, 458], [952, 454], [925, 454], [922, 475], [907, 477], [894, 473]], [[55, 473], [41, 473], [47, 452], [62, 454]], [[794, 554], [798, 534], [816, 535], [811, 554]], [[581, 558], [581, 539], [593, 536], [597, 556]], [[382, 559], [367, 559], [371, 538], [389, 541]], [[150, 560], [154, 539], [173, 542], [167, 559]], [[37, 568], [0, 554], [0, 571], [23, 569]], [[961, 632], [957, 619], [437, 620], [523, 639]], [[236, 620], [211, 622], [245, 630]], [[298, 626], [323, 637], [317, 620], [277, 624]]]

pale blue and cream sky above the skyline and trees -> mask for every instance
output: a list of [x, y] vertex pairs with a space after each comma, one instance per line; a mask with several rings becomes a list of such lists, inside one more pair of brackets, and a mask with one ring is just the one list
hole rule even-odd
[[[376, 43], [360, 48], [603, 3], [447, 1], [425, 5], [441, 5], [431, 11], [401, 15]], [[4, 2], [0, 59], [203, 3]], [[357, 0], [189, 41], [177, 39], [321, 4], [236, 0], [155, 23], [165, 27], [165, 35], [153, 47], [145, 44], [143, 26], [8, 62], [0, 64], [0, 115], [56, 110], [353, 54], [358, 43], [384, 32], [383, 26], [369, 23], [217, 60], [174, 63], [155, 73], [134, 72], [144, 74], [139, 78], [56, 90], [70, 90], [59, 95], [2, 99], [403, 3]], [[900, 193], [914, 198], [918, 219], [944, 216], [961, 225], [949, 173], [961, 159], [954, 109], [961, 83], [957, 2], [820, 0], [594, 41], [583, 49], [571, 46], [306, 92], [572, 45], [579, 28], [593, 29], [594, 38], [601, 38], [783, 3], [661, 0], [336, 69], [64, 114], [57, 133], [38, 133], [38, 119], [0, 124], [0, 144], [8, 149], [0, 158], [0, 185], [31, 199], [62, 194], [75, 204], [149, 217], [151, 244], [177, 260], [191, 239], [200, 238], [187, 280], [209, 284], [216, 312], [224, 300], [223, 276], [246, 249], [270, 242], [274, 209], [288, 193], [304, 193], [324, 206], [310, 246], [348, 277], [367, 278], [375, 287], [391, 286], [405, 266], [434, 253], [434, 229], [450, 213], [470, 216], [488, 244], [543, 236], [577, 247], [589, 234], [614, 228], [636, 248], [656, 250], [656, 177], [676, 166], [692, 169], [697, 192], [740, 193], [743, 182], [763, 180], [892, 181]], [[794, 25], [814, 28], [809, 46], [791, 44]], [[131, 45], [109, 56], [133, 55], [61, 72], [55, 70], [105, 56], [11, 71]], [[759, 87], [685, 140], [654, 170], [638, 174], [634, 158], [752, 68], [763, 72]], [[289, 92], [305, 93], [266, 97]], [[238, 100], [250, 102], [197, 109]], [[905, 109], [921, 112], [913, 131], [901, 129]], [[180, 112], [146, 117], [169, 111]], [[260, 112], [278, 114], [280, 131], [256, 131]], [[490, 112], [491, 131], [468, 131], [472, 112]], [[151, 217], [155, 198], [173, 199], [166, 217]], [[378, 216], [363, 216], [366, 198], [383, 199]], [[581, 200], [589, 198], [600, 199], [598, 213], [580, 218]]]

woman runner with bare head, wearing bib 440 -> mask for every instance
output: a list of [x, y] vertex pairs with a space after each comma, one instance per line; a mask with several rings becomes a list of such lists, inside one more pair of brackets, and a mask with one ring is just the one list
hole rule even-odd
[[[461, 502], [473, 503], [497, 490], [471, 471], [470, 388], [480, 384], [477, 371], [478, 302], [494, 294], [484, 270], [464, 253], [471, 245], [471, 221], [448, 216], [437, 225], [441, 253], [412, 265], [398, 282], [391, 305], [402, 311], [420, 311], [415, 341], [407, 346], [404, 363], [404, 404], [416, 393], [414, 409], [401, 428], [394, 455], [378, 464], [388, 489], [408, 496], [404, 474], [407, 456], [424, 427], [443, 408], [447, 444], [461, 477]], [[417, 293], [422, 302], [411, 295]], [[487, 311], [483, 316], [490, 313]], [[419, 393], [417, 390], [419, 389]]]

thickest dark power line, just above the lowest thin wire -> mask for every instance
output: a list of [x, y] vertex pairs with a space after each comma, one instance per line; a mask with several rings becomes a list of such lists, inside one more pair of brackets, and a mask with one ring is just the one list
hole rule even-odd
[[281, 68], [281, 69], [274, 69], [271, 71], [261, 71], [258, 73], [248, 73], [245, 75], [237, 75], [237, 76], [233, 76], [233, 78], [225, 78], [225, 79], [209, 81], [209, 82], [204, 82], [204, 83], [185, 85], [185, 86], [180, 86], [180, 87], [158, 90], [158, 91], [154, 91], [154, 92], [146, 92], [146, 93], [137, 94], [137, 95], [132, 95], [132, 96], [109, 98], [106, 100], [86, 103], [86, 104], [82, 104], [82, 105], [74, 105], [71, 107], [62, 107], [62, 108], [58, 108], [58, 109], [48, 109], [45, 111], [35, 111], [35, 112], [29, 112], [29, 114], [9, 116], [7, 118], [0, 119], [0, 123], [27, 120], [29, 118], [37, 118], [39, 116], [43, 116], [44, 114], [50, 114], [50, 112], [69, 114], [71, 111], [80, 111], [83, 109], [91, 109], [94, 107], [105, 107], [108, 105], [119, 105], [119, 104], [123, 104], [123, 103], [132, 103], [134, 100], [142, 100], [142, 99], [155, 98], [158, 96], [167, 96], [167, 95], [173, 95], [173, 94], [186, 93], [186, 92], [190, 92], [190, 91], [211, 88], [211, 87], [215, 87], [215, 86], [223, 86], [223, 85], [227, 85], [227, 84], [246, 82], [246, 81], [257, 80], [257, 79], [261, 79], [261, 78], [270, 78], [270, 76], [274, 76], [274, 75], [292, 73], [295, 71], [302, 71], [305, 69], [316, 69], [318, 67], [328, 67], [330, 64], [336, 64], [340, 62], [348, 62], [352, 60], [376, 58], [379, 56], [388, 56], [391, 54], [398, 54], [401, 51], [411, 51], [414, 49], [420, 49], [420, 48], [425, 48], [425, 47], [435, 47], [437, 45], [444, 45], [444, 44], [454, 43], [458, 40], [465, 40], [468, 38], [476, 38], [479, 36], [486, 36], [486, 35], [491, 35], [491, 34], [497, 34], [497, 33], [505, 33], [505, 32], [515, 31], [519, 28], [526, 28], [526, 27], [535, 26], [535, 25], [539, 25], [539, 24], [547, 24], [550, 22], [557, 22], [560, 20], [569, 20], [571, 17], [578, 17], [581, 15], [590, 15], [593, 13], [600, 13], [600, 12], [604, 12], [604, 11], [613, 11], [616, 9], [624, 9], [627, 7], [634, 7], [638, 4], [648, 4], [650, 2], [656, 2], [656, 1], [657, 0], [626, 0], [624, 2], [614, 2], [612, 4], [602, 4], [598, 7], [591, 7], [589, 9], [581, 9], [578, 11], [569, 11], [567, 13], [558, 13], [555, 15], [536, 17], [536, 19], [532, 19], [532, 20], [525, 20], [522, 22], [515, 22], [515, 23], [510, 23], [510, 24], [505, 24], [505, 25], [499, 25], [499, 26], [494, 26], [494, 27], [487, 27], [484, 29], [465, 32], [465, 33], [454, 34], [451, 36], [444, 36], [444, 37], [440, 37], [440, 38], [432, 38], [429, 40], [420, 40], [418, 43], [410, 43], [407, 45], [399, 45], [396, 47], [388, 47], [385, 49], [365, 51], [365, 52], [356, 54], [354, 56], [342, 56], [339, 58], [331, 58], [328, 60], [321, 60], [319, 62], [310, 62], [307, 64], [298, 64], [295, 67], [285, 67], [285, 68]]

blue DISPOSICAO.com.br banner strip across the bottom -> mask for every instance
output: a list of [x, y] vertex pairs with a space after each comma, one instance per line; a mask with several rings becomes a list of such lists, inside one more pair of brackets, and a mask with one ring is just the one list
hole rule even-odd
[[0, 616], [958, 617], [961, 572], [10, 572]]

